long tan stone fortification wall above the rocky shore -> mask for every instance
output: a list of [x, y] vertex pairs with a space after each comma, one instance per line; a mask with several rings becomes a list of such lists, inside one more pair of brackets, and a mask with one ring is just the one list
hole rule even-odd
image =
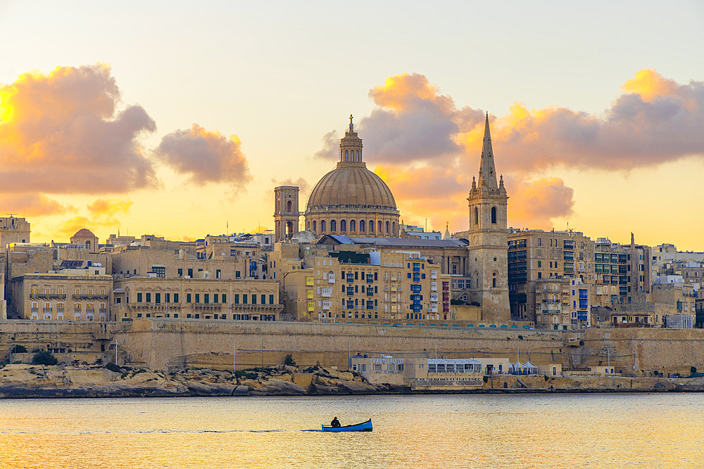
[[[356, 324], [177, 321], [119, 323], [0, 321], [0, 359], [13, 344], [104, 352], [118, 346], [118, 363], [156, 370], [184, 366], [237, 369], [282, 364], [291, 354], [301, 366], [346, 368], [351, 354], [398, 358], [506, 357], [533, 364], [586, 368], [610, 362], [630, 375], [689, 373], [704, 369], [704, 330], [588, 329], [584, 331], [366, 326]], [[436, 352], [437, 350], [437, 352]]]

